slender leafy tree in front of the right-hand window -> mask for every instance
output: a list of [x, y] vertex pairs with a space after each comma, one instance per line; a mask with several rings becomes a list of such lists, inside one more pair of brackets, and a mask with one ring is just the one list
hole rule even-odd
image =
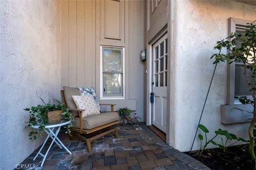
[[[221, 49], [222, 47], [229, 50], [227, 54], [214, 54], [211, 58], [215, 58], [214, 64], [219, 62], [239, 62], [242, 63], [242, 67], [244, 70], [244, 76], [246, 79], [246, 84], [248, 87], [248, 91], [252, 96], [252, 100], [247, 98], [247, 96], [235, 97], [238, 98], [242, 104], [250, 104], [254, 107], [252, 113], [252, 119], [250, 121], [250, 126], [248, 130], [248, 135], [250, 139], [249, 144], [249, 154], [252, 160], [256, 160], [256, 156], [254, 154], [254, 125], [256, 123], [256, 82], [250, 81], [248, 76], [248, 70], [251, 72], [251, 76], [253, 78], [256, 77], [256, 25], [255, 23], [248, 23], [246, 26], [246, 30], [242, 33], [231, 33], [225, 40], [217, 41], [217, 45], [214, 49]], [[241, 47], [236, 47], [237, 42], [241, 43]], [[241, 110], [243, 111], [243, 110]]]

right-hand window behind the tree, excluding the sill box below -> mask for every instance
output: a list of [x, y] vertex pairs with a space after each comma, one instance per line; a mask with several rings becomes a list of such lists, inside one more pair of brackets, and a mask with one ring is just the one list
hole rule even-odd
[[[246, 25], [248, 23], [252, 23], [253, 21], [242, 20], [237, 18], [229, 18], [228, 20], [228, 35], [230, 33], [242, 33], [246, 30]], [[241, 43], [237, 42], [237, 47], [241, 46]], [[245, 77], [244, 77], [244, 67], [241, 66], [242, 63], [233, 62], [228, 64], [228, 87], [227, 87], [227, 104], [241, 104], [238, 99], [234, 98], [234, 96], [248, 96], [250, 98], [250, 92], [246, 85]], [[250, 71], [248, 70], [248, 74]], [[252, 80], [253, 82], [254, 80]]]

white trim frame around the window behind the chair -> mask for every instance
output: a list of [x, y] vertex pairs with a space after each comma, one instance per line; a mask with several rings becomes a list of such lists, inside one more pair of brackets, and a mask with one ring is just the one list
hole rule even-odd
[[[123, 96], [103, 96], [103, 48], [119, 48], [122, 49], [122, 91]], [[119, 99], [125, 99], [125, 47], [119, 47], [119, 46], [107, 46], [107, 45], [100, 45], [100, 100], [119, 100]]]

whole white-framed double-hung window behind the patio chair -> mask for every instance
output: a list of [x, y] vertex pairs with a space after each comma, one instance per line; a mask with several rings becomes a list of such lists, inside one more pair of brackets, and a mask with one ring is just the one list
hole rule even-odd
[[124, 99], [124, 47], [100, 46], [100, 98]]

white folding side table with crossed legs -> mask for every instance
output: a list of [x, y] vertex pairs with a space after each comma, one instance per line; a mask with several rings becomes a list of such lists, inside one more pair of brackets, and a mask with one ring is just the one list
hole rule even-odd
[[[48, 136], [46, 137], [41, 149], [38, 151], [38, 153], [36, 154], [36, 156], [34, 157], [33, 160], [36, 160], [37, 156], [40, 154], [41, 156], [44, 157], [43, 161], [42, 161], [42, 164], [41, 164], [41, 167], [43, 166], [44, 164], [44, 161], [46, 159], [46, 156], [48, 154], [48, 152], [50, 151], [51, 147], [52, 147], [52, 144], [55, 142], [61, 149], [62, 147], [64, 149], [66, 149], [68, 151], [68, 153], [71, 154], [71, 152], [65, 147], [65, 145], [60, 141], [60, 139], [57, 137], [58, 133], [60, 132], [60, 127], [61, 126], [64, 126], [64, 125], [67, 125], [68, 123], [70, 123], [70, 121], [66, 121], [66, 120], [61, 120], [61, 121], [57, 121], [57, 122], [53, 122], [53, 123], [46, 123], [45, 125], [45, 132], [48, 134]], [[39, 128], [40, 126], [39, 125], [32, 125], [31, 126], [32, 128]], [[55, 128], [58, 128], [56, 130], [56, 132], [54, 133], [54, 129]], [[46, 144], [47, 140], [49, 139], [49, 137], [52, 138], [52, 143], [51, 145], [49, 146], [49, 148], [47, 149], [45, 155], [41, 153], [42, 149], [44, 148], [44, 145]], [[56, 141], [57, 140], [57, 141]]]

